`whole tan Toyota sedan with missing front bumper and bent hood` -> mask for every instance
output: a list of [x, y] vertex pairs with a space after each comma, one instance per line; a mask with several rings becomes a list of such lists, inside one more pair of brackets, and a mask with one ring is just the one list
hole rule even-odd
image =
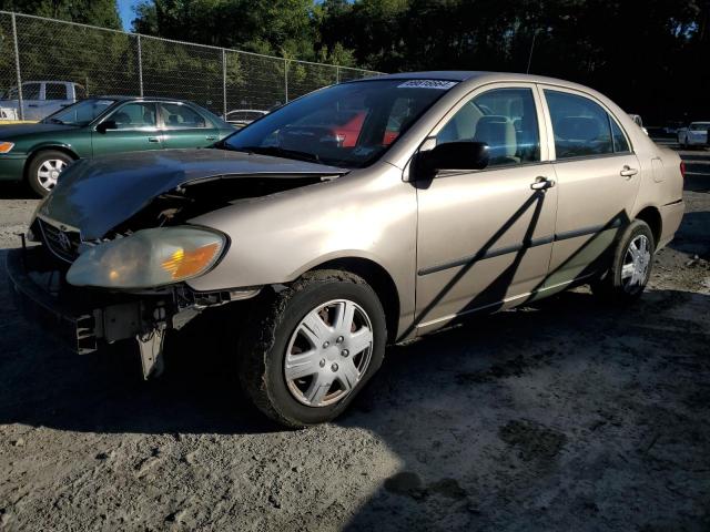
[[73, 163], [8, 272], [38, 327], [79, 352], [132, 339], [146, 378], [166, 335], [241, 309], [244, 390], [303, 427], [341, 413], [387, 344], [579, 284], [637, 298], [680, 224], [682, 171], [581, 85], [384, 75], [210, 149]]

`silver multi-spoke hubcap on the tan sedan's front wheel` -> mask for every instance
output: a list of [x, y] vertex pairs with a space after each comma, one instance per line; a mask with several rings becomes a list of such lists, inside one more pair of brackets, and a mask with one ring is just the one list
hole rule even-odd
[[311, 310], [291, 336], [284, 377], [291, 395], [308, 407], [346, 397], [363, 378], [373, 351], [373, 326], [365, 310], [347, 299]]

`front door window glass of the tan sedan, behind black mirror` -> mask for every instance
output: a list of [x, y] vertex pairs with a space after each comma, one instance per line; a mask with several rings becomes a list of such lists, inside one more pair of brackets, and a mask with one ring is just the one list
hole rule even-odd
[[436, 135], [436, 143], [474, 141], [489, 146], [489, 166], [540, 160], [540, 134], [530, 89], [496, 89], [467, 102]]

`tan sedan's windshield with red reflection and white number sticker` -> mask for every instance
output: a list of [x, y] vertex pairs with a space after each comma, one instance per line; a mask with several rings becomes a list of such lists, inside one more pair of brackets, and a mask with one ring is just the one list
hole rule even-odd
[[334, 85], [265, 115], [226, 139], [224, 147], [366, 166], [455, 84], [378, 80]]

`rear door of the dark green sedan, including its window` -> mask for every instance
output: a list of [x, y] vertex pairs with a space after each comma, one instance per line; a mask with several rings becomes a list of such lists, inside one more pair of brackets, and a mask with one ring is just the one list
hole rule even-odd
[[158, 108], [163, 147], [204, 147], [217, 141], [214, 124], [186, 103], [160, 102]]

